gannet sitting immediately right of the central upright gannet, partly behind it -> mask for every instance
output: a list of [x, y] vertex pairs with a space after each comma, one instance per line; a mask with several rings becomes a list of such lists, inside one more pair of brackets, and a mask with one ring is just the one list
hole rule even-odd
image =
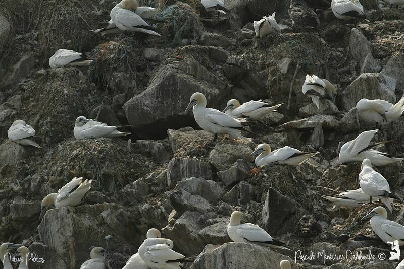
[[240, 105], [240, 102], [236, 99], [231, 99], [227, 102], [227, 106], [222, 112], [225, 112], [232, 118], [247, 117], [250, 120], [260, 120], [263, 116], [276, 111], [281, 105], [283, 105], [283, 103], [270, 106], [269, 104], [262, 102], [262, 100], [249, 101]]

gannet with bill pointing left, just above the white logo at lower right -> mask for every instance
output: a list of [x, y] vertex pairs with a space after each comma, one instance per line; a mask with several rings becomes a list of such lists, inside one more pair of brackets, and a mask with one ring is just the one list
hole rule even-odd
[[362, 220], [370, 219], [370, 225], [373, 231], [380, 239], [387, 242], [398, 240], [399, 246], [404, 245], [404, 226], [395, 221], [387, 220], [387, 210], [383, 207], [373, 209]]

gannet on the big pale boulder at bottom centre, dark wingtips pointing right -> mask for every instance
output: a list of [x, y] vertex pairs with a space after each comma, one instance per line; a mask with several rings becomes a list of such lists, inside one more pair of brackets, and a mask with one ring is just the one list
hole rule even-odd
[[251, 243], [290, 250], [284, 243], [273, 239], [272, 236], [257, 224], [240, 224], [242, 215], [241, 212], [234, 211], [230, 216], [230, 223], [227, 225], [227, 234], [233, 242]]

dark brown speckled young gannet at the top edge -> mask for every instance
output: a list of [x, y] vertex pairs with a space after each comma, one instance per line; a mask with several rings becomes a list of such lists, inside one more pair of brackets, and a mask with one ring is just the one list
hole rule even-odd
[[297, 30], [321, 30], [317, 14], [302, 0], [290, 0], [289, 16]]

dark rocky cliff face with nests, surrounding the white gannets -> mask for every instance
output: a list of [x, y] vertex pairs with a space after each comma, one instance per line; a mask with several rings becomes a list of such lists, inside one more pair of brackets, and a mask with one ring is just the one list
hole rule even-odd
[[[404, 93], [402, 7], [364, 1], [370, 22], [356, 24], [341, 24], [329, 11], [317, 10], [325, 31], [296, 33], [289, 27], [287, 1], [229, 0], [232, 13], [219, 20], [199, 19], [199, 1], [183, 2], [140, 1], [159, 8], [156, 18], [167, 22], [155, 26], [163, 36], [121, 40], [89, 33], [109, 21], [112, 0], [0, 3], [0, 241], [22, 242], [44, 257], [30, 268], [78, 268], [90, 246], [105, 246], [108, 234], [121, 252], [133, 254], [151, 227], [172, 239], [178, 252], [197, 255], [185, 264], [195, 269], [278, 268], [298, 250], [341, 251], [341, 234], [373, 234], [360, 219], [374, 205], [331, 211], [320, 195], [359, 187], [360, 164], [340, 165], [337, 158], [341, 142], [363, 130], [357, 101], [395, 102]], [[285, 31], [255, 38], [256, 14], [274, 11]], [[95, 62], [52, 70], [47, 61], [59, 48], [88, 52]], [[324, 100], [318, 110], [302, 95], [306, 74], [313, 73], [337, 85], [336, 106]], [[232, 98], [286, 104], [251, 126], [250, 144], [227, 136], [212, 142], [213, 135], [183, 112], [196, 91], [207, 96], [208, 107], [220, 110]], [[130, 125], [131, 141], [76, 141], [73, 126], [80, 115]], [[7, 139], [16, 119], [35, 128], [41, 150]], [[402, 154], [403, 138], [401, 117], [375, 141], [396, 140], [381, 149]], [[258, 168], [249, 154], [260, 143], [320, 154], [297, 167]], [[402, 197], [401, 166], [378, 171]], [[51, 209], [39, 222], [41, 199], [75, 176], [93, 180], [82, 204]], [[226, 226], [234, 210], [292, 251], [229, 243]], [[402, 223], [402, 210], [394, 204], [388, 218]], [[320, 230], [308, 232], [307, 214]], [[388, 255], [383, 246], [357, 250]], [[377, 258], [297, 258], [292, 268], [394, 265]]]

